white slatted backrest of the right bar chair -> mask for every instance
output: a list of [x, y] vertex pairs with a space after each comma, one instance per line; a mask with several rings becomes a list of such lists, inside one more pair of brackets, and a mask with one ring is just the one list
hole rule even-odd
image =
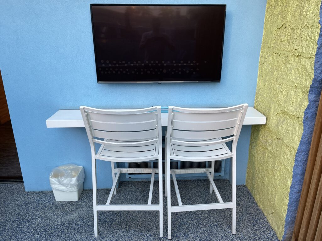
[[[184, 146], [237, 143], [248, 104], [216, 109], [169, 106], [169, 142]], [[217, 138], [217, 139], [216, 139]]]

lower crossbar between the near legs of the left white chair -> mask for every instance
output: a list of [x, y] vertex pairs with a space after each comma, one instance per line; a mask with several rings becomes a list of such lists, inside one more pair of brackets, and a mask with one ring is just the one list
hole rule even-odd
[[[158, 211], [162, 206], [159, 204], [151, 205], [97, 205], [97, 211]], [[94, 207], [95, 208], [95, 207]]]

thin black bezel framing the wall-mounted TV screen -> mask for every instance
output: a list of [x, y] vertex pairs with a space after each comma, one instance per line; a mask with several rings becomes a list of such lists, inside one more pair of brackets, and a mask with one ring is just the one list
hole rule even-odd
[[[223, 19], [223, 44], [224, 44], [224, 38], [225, 38], [225, 25], [226, 25], [226, 9], [227, 4], [90, 4], [90, 19], [92, 22], [92, 35], [93, 35], [93, 45], [94, 45], [94, 56], [96, 53], [95, 48], [95, 34], [94, 34], [94, 24], [93, 24], [93, 13], [92, 13], [92, 6], [223, 6], [225, 7], [224, 12], [224, 19]], [[219, 80], [185, 80], [185, 81], [99, 81], [97, 77], [97, 62], [95, 58], [95, 72], [96, 72], [96, 78], [97, 83], [99, 84], [123, 84], [123, 83], [220, 83], [221, 81], [221, 75], [222, 75], [222, 69], [223, 69], [223, 44], [222, 44], [222, 54], [221, 54], [221, 60], [220, 60], [220, 78]]]

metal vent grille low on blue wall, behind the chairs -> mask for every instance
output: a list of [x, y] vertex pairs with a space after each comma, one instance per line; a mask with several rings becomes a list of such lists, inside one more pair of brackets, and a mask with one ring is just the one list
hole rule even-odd
[[[165, 156], [165, 148], [162, 148], [162, 156]], [[157, 160], [149, 162], [129, 162], [126, 163], [128, 168], [158, 168], [159, 163]], [[216, 176], [224, 174], [224, 160], [219, 160], [214, 162], [214, 173]], [[211, 162], [187, 162], [187, 161], [171, 161], [170, 169], [186, 169], [186, 168], [207, 168], [211, 167]], [[162, 173], [165, 173], [165, 163], [162, 162]], [[146, 178], [150, 177], [151, 174], [142, 173], [127, 173], [127, 178]], [[179, 176], [179, 175], [178, 175]]]

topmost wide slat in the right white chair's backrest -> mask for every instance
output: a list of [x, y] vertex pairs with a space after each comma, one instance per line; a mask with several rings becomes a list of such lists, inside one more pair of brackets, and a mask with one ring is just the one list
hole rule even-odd
[[237, 118], [241, 109], [219, 112], [219, 113], [188, 113], [188, 112], [172, 112], [173, 120], [177, 121], [224, 121]]

